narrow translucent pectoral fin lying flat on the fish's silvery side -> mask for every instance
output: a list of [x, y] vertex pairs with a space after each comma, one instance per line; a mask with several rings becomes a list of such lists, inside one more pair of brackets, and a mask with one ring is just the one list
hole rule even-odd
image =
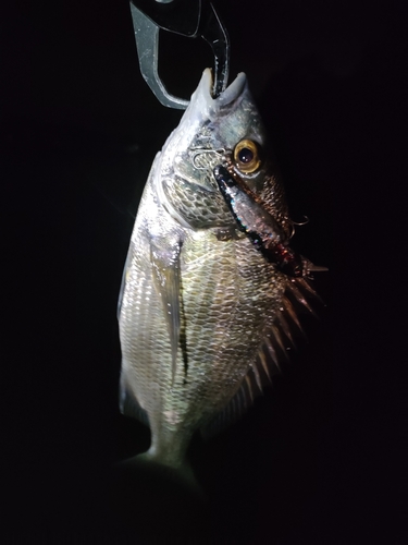
[[161, 295], [163, 312], [168, 324], [172, 350], [172, 384], [177, 366], [177, 350], [180, 343], [181, 315], [180, 315], [180, 252], [181, 242], [165, 250], [152, 243], [150, 258], [153, 268], [154, 287]]

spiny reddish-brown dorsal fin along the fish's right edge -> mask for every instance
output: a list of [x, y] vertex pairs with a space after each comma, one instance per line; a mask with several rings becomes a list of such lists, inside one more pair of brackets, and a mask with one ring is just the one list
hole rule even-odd
[[304, 330], [298, 314], [309, 311], [317, 316], [308, 299], [321, 299], [304, 278], [287, 280], [282, 305], [259, 349], [255, 363], [249, 367], [239, 389], [209, 424], [201, 428], [205, 438], [212, 437], [236, 422], [262, 395], [264, 386], [272, 383], [273, 376], [282, 373], [283, 365], [289, 360], [288, 350], [296, 348], [294, 337]]

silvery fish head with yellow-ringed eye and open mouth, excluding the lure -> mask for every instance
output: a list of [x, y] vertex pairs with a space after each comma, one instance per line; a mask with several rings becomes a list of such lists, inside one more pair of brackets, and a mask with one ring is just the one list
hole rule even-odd
[[184, 227], [232, 226], [231, 211], [213, 177], [214, 167], [228, 160], [283, 229], [289, 229], [284, 192], [246, 75], [238, 74], [217, 98], [211, 88], [212, 73], [206, 69], [178, 126], [163, 146], [158, 180], [162, 204]]

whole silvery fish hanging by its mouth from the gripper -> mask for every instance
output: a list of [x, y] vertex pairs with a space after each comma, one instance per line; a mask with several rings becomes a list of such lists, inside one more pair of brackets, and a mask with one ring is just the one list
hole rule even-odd
[[193, 435], [236, 421], [279, 373], [314, 312], [311, 262], [294, 232], [244, 73], [213, 98], [205, 70], [153, 160], [119, 302], [120, 404], [150, 427], [144, 455], [188, 464]]

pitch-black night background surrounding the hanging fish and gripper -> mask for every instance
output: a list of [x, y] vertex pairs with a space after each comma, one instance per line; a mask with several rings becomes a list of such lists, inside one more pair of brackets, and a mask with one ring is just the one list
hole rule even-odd
[[[396, 239], [407, 150], [403, 9], [217, 5], [231, 80], [247, 73], [293, 217], [310, 218], [295, 244], [330, 267], [316, 280], [327, 307], [319, 322], [305, 317], [309, 343], [255, 408], [193, 443], [207, 502], [137, 474], [118, 481], [112, 464], [149, 445], [149, 432], [118, 410], [118, 292], [132, 214], [181, 112], [161, 107], [140, 76], [126, 1], [9, 3], [4, 543], [408, 543], [406, 355], [398, 331], [387, 335], [406, 308]], [[161, 46], [163, 81], [188, 98], [212, 64], [208, 46], [164, 33]]]

